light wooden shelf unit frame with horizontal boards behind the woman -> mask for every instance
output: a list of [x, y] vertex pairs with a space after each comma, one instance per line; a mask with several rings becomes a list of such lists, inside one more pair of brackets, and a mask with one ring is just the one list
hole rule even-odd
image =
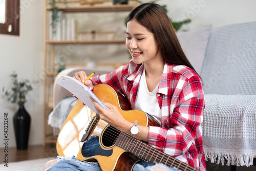
[[[124, 44], [125, 39], [74, 39], [74, 40], [50, 40], [48, 39], [49, 34], [49, 20], [48, 15], [51, 11], [51, 7], [48, 5], [48, 0], [45, 0], [45, 27], [44, 27], [44, 143], [43, 146], [46, 147], [46, 143], [56, 143], [56, 137], [53, 136], [52, 128], [47, 124], [47, 119], [51, 111], [53, 110], [53, 105], [49, 103], [49, 99], [52, 96], [52, 88], [55, 76], [58, 74], [54, 71], [54, 67], [57, 65], [54, 62], [54, 47], [56, 45], [69, 45], [69, 44], [84, 44], [85, 46], [91, 45], [109, 45], [109, 44]], [[79, 5], [67, 6], [56, 2], [59, 10], [65, 13], [88, 13], [88, 12], [129, 12], [138, 6], [138, 3], [129, 1], [127, 5]], [[69, 4], [68, 4], [69, 5]], [[99, 33], [100, 34], [100, 33]], [[97, 66], [108, 66], [114, 65], [114, 63], [96, 63]], [[79, 66], [79, 63], [66, 63], [66, 66]], [[84, 66], [84, 63], [80, 63], [80, 66]], [[50, 130], [50, 133], [48, 133]]]

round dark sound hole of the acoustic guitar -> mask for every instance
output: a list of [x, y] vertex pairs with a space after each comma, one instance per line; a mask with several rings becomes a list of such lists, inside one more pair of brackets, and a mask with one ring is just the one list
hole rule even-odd
[[103, 145], [106, 147], [110, 147], [114, 145], [119, 134], [120, 134], [119, 130], [109, 125], [102, 135]]

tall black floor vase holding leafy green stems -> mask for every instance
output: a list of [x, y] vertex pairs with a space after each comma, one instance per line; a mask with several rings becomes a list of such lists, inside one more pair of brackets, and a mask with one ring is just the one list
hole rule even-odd
[[32, 86], [28, 79], [18, 81], [15, 72], [10, 76], [13, 82], [12, 92], [9, 92], [4, 88], [3, 92], [7, 96], [8, 101], [19, 105], [19, 110], [13, 116], [16, 147], [17, 149], [27, 149], [31, 118], [24, 108], [24, 103], [27, 101], [26, 95], [29, 91], [32, 91]]

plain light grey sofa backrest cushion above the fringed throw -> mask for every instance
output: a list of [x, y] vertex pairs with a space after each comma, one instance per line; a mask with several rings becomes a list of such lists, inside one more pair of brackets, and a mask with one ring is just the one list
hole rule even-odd
[[256, 94], [256, 22], [211, 31], [201, 77], [204, 92]]

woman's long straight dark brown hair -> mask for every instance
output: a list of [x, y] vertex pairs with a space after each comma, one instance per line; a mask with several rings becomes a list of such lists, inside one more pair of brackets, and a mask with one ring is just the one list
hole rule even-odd
[[185, 65], [195, 71], [180, 46], [169, 17], [160, 5], [141, 4], [130, 12], [126, 19], [126, 26], [132, 19], [154, 34], [156, 41], [160, 43], [162, 56], [166, 62]]

